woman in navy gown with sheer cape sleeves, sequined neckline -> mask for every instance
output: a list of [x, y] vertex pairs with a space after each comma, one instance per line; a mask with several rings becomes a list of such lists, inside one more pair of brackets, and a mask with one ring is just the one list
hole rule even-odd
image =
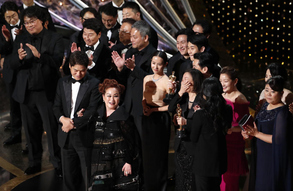
[[284, 93], [281, 76], [266, 82], [266, 101], [256, 116], [254, 127], [242, 131], [244, 138], [252, 139], [250, 191], [292, 190], [292, 135], [291, 113], [281, 101]]

